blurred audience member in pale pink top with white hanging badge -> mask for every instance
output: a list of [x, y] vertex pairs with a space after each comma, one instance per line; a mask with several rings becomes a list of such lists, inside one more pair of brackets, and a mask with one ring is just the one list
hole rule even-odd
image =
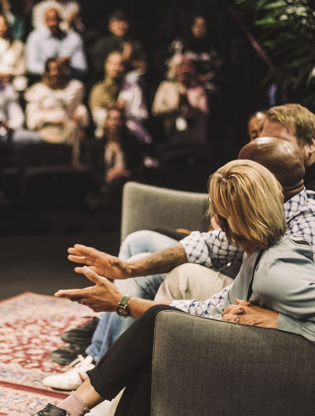
[[191, 60], [174, 55], [166, 78], [157, 87], [151, 108], [152, 116], [162, 119], [166, 140], [206, 143], [208, 98]]

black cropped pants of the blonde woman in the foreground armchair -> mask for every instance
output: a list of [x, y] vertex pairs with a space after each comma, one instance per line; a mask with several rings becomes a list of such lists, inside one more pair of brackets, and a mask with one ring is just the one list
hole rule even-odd
[[115, 416], [150, 416], [154, 325], [162, 310], [178, 309], [150, 307], [87, 372], [92, 386], [104, 399], [112, 400], [125, 387]]

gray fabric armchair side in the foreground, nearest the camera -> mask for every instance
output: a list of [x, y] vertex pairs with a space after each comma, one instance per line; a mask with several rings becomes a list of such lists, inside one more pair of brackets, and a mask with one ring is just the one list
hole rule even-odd
[[299, 335], [163, 311], [151, 416], [310, 416], [315, 345]]

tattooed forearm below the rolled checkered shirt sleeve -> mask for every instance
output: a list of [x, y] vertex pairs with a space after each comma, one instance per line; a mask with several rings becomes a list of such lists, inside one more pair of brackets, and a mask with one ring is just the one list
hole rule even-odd
[[181, 244], [176, 244], [167, 249], [157, 251], [147, 257], [142, 257], [129, 263], [134, 276], [146, 276], [148, 274], [167, 273], [174, 267], [186, 263], [187, 257]]

